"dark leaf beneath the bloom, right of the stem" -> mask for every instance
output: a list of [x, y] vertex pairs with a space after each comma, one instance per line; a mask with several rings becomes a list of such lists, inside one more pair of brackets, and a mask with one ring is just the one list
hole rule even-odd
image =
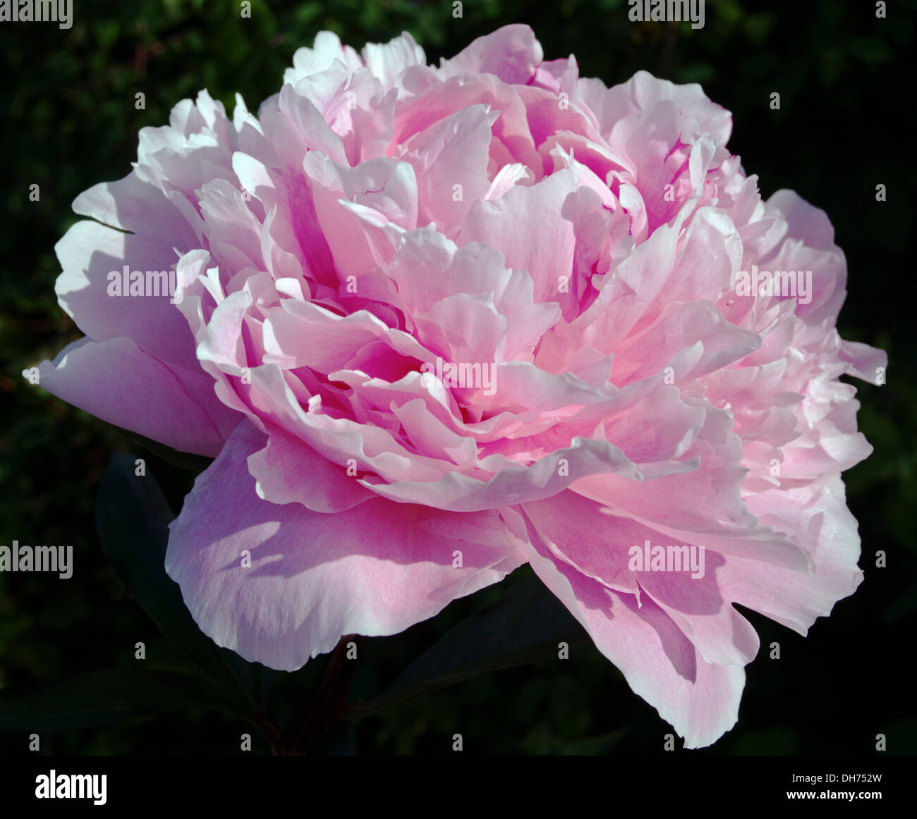
[[513, 584], [495, 604], [451, 628], [382, 693], [348, 716], [374, 714], [428, 688], [557, 656], [558, 642], [586, 641], [577, 620], [536, 577]]

